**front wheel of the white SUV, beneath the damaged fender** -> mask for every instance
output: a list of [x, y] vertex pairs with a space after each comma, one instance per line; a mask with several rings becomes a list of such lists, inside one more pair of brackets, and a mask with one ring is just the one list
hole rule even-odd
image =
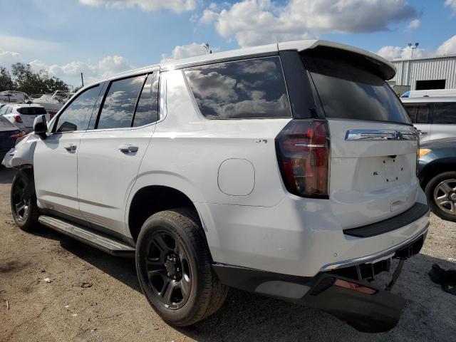
[[11, 183], [11, 213], [14, 222], [24, 231], [39, 227], [40, 212], [36, 205], [35, 182], [33, 171], [19, 170]]

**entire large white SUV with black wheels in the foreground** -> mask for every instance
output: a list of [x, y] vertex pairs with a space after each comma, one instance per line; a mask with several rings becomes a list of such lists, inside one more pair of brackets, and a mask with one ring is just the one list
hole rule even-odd
[[373, 53], [296, 41], [93, 83], [6, 155], [14, 219], [135, 255], [176, 326], [233, 286], [386, 331], [404, 305], [388, 290], [429, 226], [394, 74]]

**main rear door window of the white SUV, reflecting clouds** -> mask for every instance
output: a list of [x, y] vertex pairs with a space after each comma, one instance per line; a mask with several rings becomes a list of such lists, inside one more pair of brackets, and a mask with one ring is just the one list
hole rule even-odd
[[131, 127], [135, 105], [146, 76], [113, 81], [108, 89], [98, 129]]

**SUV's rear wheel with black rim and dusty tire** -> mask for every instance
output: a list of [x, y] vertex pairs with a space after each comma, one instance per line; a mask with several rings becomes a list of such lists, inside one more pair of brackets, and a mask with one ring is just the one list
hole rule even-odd
[[178, 208], [149, 217], [136, 244], [142, 292], [173, 326], [190, 326], [214, 314], [228, 287], [212, 270], [209, 249], [195, 212]]

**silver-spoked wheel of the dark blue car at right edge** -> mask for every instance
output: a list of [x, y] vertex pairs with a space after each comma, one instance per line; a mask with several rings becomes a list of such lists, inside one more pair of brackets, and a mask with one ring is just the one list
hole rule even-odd
[[443, 172], [433, 177], [427, 182], [425, 194], [427, 204], [434, 214], [441, 219], [456, 222], [456, 172]]

